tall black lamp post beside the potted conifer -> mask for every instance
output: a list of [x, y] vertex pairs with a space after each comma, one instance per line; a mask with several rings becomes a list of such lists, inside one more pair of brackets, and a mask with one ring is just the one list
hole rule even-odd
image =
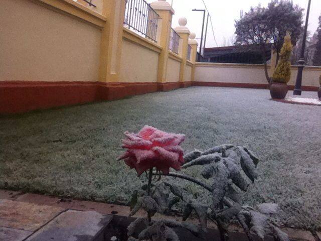
[[307, 33], [307, 24], [309, 22], [309, 14], [310, 14], [310, 5], [311, 5], [311, 0], [308, 2], [307, 6], [307, 11], [306, 11], [306, 19], [305, 19], [305, 26], [304, 26], [304, 33], [303, 33], [303, 39], [302, 39], [302, 49], [301, 49], [301, 55], [300, 59], [297, 61], [299, 63], [297, 67], [297, 76], [296, 76], [296, 82], [295, 82], [295, 87], [293, 94], [294, 95], [301, 95], [301, 85], [302, 85], [302, 73], [303, 73], [303, 68], [305, 64], [304, 60], [304, 50], [305, 50], [305, 41], [306, 41], [306, 33]]

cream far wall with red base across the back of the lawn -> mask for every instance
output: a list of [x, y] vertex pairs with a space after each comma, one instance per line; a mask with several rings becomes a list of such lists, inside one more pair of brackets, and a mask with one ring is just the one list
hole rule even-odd
[[[268, 66], [270, 71], [270, 66]], [[294, 87], [297, 67], [291, 67], [291, 80], [288, 85]], [[316, 91], [321, 67], [305, 67], [302, 78], [302, 89]], [[198, 86], [226, 86], [267, 88], [263, 65], [196, 63], [195, 82]]]

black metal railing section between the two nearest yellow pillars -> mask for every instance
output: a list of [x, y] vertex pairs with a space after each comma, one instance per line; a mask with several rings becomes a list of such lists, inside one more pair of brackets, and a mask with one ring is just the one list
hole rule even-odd
[[145, 0], [126, 0], [124, 25], [156, 42], [159, 15]]

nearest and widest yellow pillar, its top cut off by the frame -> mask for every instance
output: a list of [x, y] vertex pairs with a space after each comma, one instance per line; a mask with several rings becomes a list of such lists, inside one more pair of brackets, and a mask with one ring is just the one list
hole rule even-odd
[[119, 82], [122, 28], [125, 0], [102, 0], [102, 15], [107, 18], [101, 33], [99, 81]]

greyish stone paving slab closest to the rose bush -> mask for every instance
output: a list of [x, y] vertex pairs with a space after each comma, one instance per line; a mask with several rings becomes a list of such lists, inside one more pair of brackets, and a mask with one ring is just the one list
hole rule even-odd
[[95, 211], [67, 210], [26, 241], [100, 241], [102, 239], [98, 239], [98, 236], [111, 219], [111, 215], [102, 215]]

